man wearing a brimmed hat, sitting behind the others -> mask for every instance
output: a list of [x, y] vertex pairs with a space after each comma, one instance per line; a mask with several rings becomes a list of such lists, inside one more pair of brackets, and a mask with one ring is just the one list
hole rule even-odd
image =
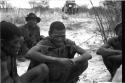
[[25, 53], [44, 38], [44, 36], [40, 35], [40, 27], [37, 25], [37, 23], [41, 20], [39, 17], [37, 17], [34, 13], [29, 13], [25, 20], [27, 23], [19, 27], [24, 37], [24, 42], [22, 43], [19, 51], [20, 61], [25, 60], [23, 57]]

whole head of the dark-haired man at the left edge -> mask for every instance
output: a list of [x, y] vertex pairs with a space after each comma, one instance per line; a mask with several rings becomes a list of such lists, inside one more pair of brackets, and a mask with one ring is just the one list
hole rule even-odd
[[16, 54], [20, 49], [21, 32], [12, 23], [2, 21], [0, 22], [0, 32], [1, 32], [1, 47], [7, 53]]

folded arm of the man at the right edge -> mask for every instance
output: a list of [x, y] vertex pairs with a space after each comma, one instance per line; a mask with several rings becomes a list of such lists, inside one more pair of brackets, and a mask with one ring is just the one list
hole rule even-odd
[[101, 46], [97, 52], [97, 54], [102, 56], [111, 56], [111, 55], [119, 55], [122, 53], [121, 50], [113, 49], [108, 43]]

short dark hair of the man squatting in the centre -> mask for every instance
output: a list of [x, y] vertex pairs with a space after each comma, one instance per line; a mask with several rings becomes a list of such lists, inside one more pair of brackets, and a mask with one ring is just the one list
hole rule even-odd
[[54, 30], [65, 30], [65, 25], [60, 21], [55, 21], [50, 25], [49, 32], [53, 32]]

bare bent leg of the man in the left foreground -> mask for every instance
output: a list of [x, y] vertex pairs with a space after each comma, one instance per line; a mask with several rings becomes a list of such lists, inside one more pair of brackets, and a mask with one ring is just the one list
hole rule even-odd
[[23, 74], [20, 78], [23, 83], [31, 83], [36, 80], [37, 83], [41, 82], [48, 75], [48, 68], [45, 64], [40, 64]]

